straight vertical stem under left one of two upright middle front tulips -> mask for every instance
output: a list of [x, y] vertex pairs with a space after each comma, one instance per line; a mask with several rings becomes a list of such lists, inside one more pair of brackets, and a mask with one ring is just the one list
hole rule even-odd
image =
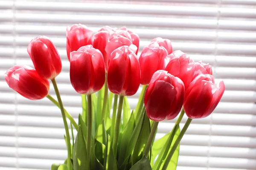
[[88, 119], [87, 119], [87, 153], [90, 157], [91, 152], [91, 142], [92, 142], [92, 95], [87, 95], [88, 103]]

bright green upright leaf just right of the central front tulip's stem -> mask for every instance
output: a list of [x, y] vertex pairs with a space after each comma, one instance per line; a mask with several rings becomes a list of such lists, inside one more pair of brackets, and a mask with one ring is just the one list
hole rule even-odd
[[134, 131], [134, 127], [135, 127], [135, 118], [134, 118], [134, 112], [132, 112], [130, 119], [126, 124], [124, 130], [119, 134], [121, 139], [118, 145], [119, 146], [119, 157], [118, 157], [119, 164], [122, 164], [125, 161], [125, 154], [123, 153], [126, 153], [128, 144], [131, 140], [131, 135]]

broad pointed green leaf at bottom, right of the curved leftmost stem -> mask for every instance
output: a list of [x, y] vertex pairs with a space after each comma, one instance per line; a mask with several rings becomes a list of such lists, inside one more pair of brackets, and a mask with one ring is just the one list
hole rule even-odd
[[73, 166], [74, 170], [90, 170], [90, 161], [87, 155], [87, 149], [81, 125], [79, 125], [79, 129], [76, 135], [76, 142], [74, 144]]

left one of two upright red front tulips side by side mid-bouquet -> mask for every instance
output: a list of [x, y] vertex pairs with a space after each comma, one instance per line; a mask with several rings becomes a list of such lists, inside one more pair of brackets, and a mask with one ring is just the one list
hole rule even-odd
[[93, 94], [105, 82], [105, 67], [102, 53], [86, 45], [70, 53], [70, 81], [79, 94]]

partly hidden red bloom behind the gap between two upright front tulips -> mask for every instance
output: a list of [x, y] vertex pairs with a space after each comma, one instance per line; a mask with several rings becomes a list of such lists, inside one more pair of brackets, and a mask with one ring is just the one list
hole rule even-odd
[[108, 38], [108, 33], [113, 31], [113, 28], [109, 26], [102, 27], [96, 34], [93, 35], [93, 48], [98, 49], [104, 58], [105, 68], [107, 69], [107, 63], [109, 62], [105, 48]]

